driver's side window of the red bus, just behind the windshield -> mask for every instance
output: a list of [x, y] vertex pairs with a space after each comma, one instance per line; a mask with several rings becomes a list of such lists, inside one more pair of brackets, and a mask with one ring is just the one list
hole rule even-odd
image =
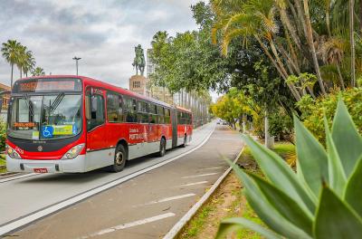
[[[89, 97], [89, 96], [88, 96]], [[90, 110], [87, 110], [87, 129], [90, 131], [95, 127], [104, 124], [104, 99], [99, 94], [93, 94], [90, 97], [90, 103], [86, 103], [86, 106], [90, 106]]]

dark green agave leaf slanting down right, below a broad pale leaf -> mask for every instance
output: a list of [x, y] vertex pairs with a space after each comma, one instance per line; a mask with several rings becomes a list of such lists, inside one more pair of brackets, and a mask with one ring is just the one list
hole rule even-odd
[[252, 174], [257, 186], [262, 190], [263, 195], [272, 203], [278, 212], [288, 219], [292, 224], [297, 225], [301, 230], [312, 236], [313, 218], [310, 211], [305, 211], [291, 199], [290, 196], [284, 194], [278, 187], [272, 186], [269, 182]]

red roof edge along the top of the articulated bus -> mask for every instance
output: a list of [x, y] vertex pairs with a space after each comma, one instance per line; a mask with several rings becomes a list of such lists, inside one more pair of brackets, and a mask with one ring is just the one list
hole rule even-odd
[[[80, 76], [80, 75], [42, 75], [42, 76], [23, 78], [23, 79], [19, 79], [17, 81], [24, 81], [24, 80], [31, 80], [31, 79], [52, 79], [52, 78], [53, 79], [78, 78], [78, 79], [81, 79], [83, 82], [87, 82], [87, 83], [90, 83], [90, 84], [94, 85], [95, 87], [105, 88], [105, 89], [110, 90], [110, 91], [116, 91], [116, 92], [119, 92], [119, 93], [121, 93], [123, 95], [128, 95], [128, 96], [131, 96], [131, 97], [135, 97], [135, 98], [137, 98], [139, 100], [147, 100], [147, 101], [153, 102], [155, 104], [162, 105], [164, 107], [168, 107], [168, 108], [172, 107], [170, 104], [167, 104], [166, 102], [163, 102], [163, 101], [160, 101], [160, 100], [155, 100], [153, 98], [150, 98], [150, 97], [147, 97], [147, 96], [144, 96], [144, 95], [140, 95], [140, 94], [138, 94], [136, 92], [126, 90], [126, 89], [121, 88], [119, 86], [115, 86], [115, 85], [112, 85], [112, 84], [104, 82], [104, 81], [95, 80], [95, 79], [92, 79], [92, 78], [86, 77], [86, 76]], [[186, 110], [186, 109], [181, 108], [181, 107], [176, 107], [176, 109], [191, 112], [190, 110]]]

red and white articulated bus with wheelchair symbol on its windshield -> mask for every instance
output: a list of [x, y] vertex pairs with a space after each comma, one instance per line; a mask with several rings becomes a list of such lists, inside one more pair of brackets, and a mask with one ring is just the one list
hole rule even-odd
[[14, 82], [9, 102], [6, 167], [11, 172], [87, 172], [192, 138], [192, 113], [81, 76], [42, 76]]

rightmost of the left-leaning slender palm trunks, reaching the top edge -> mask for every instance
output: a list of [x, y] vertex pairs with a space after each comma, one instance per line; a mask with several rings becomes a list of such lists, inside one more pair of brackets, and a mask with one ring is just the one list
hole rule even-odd
[[[296, 3], [297, 2], [298, 1], [296, 1]], [[323, 84], [322, 76], [320, 75], [319, 62], [317, 59], [316, 48], [314, 47], [313, 33], [312, 33], [312, 28], [311, 28], [311, 23], [310, 23], [310, 7], [308, 5], [308, 0], [303, 0], [303, 4], [304, 4], [304, 14], [305, 14], [305, 18], [306, 18], [306, 26], [307, 26], [306, 37], [307, 37], [308, 42], [310, 43], [310, 50], [311, 50], [311, 54], [312, 54], [312, 58], [313, 58], [314, 68], [317, 73], [317, 79], [319, 81], [319, 87], [320, 87], [320, 90], [322, 91], [322, 93], [325, 95], [327, 92], [326, 92], [326, 89]]]

